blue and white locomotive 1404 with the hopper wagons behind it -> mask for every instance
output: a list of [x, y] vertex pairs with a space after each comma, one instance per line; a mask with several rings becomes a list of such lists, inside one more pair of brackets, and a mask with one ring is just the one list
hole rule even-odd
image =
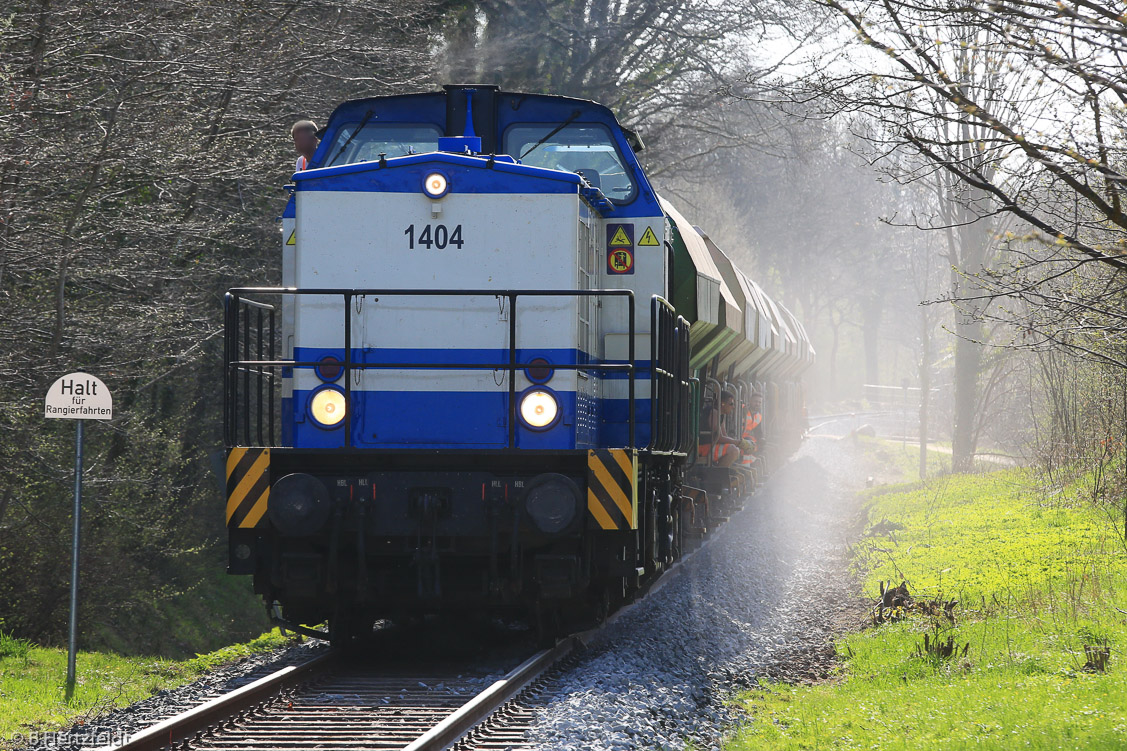
[[332, 113], [282, 286], [227, 298], [229, 571], [286, 622], [597, 616], [762, 475], [698, 459], [702, 403], [765, 391], [800, 433], [809, 339], [640, 148], [598, 104], [486, 86]]

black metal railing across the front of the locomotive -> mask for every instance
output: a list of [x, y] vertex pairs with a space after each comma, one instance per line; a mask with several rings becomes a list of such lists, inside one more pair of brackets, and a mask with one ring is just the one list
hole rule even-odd
[[[508, 374], [508, 449], [516, 448], [516, 373], [535, 368], [534, 363], [517, 362], [517, 300], [521, 298], [624, 298], [629, 320], [629, 351], [625, 363], [551, 363], [553, 370], [577, 370], [596, 372], [625, 372], [629, 394], [629, 444], [635, 447], [635, 304], [632, 290], [340, 290], [340, 289], [292, 289], [292, 288], [237, 288], [224, 299], [223, 339], [223, 439], [229, 447], [276, 445], [274, 391], [278, 386], [277, 371], [293, 368], [323, 366], [320, 361], [279, 360], [276, 356], [275, 338], [278, 335], [277, 310], [274, 306], [248, 295], [263, 297], [339, 297], [344, 302], [344, 369], [345, 418], [344, 442], [346, 449], [353, 447], [352, 430], [352, 373], [363, 370], [487, 370], [505, 371]], [[508, 303], [508, 360], [498, 363], [434, 363], [355, 362], [353, 357], [353, 300], [356, 298], [407, 298], [407, 297], [491, 297]], [[268, 327], [268, 330], [267, 330]], [[687, 334], [686, 334], [687, 341]], [[524, 347], [527, 348], [527, 347]], [[268, 441], [268, 442], [267, 442]]]

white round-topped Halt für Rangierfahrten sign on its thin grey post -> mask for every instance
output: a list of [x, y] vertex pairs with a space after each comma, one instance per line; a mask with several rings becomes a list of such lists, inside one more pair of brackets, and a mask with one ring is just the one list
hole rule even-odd
[[114, 398], [98, 378], [87, 373], [63, 376], [47, 389], [43, 415], [53, 419], [74, 419], [74, 537], [71, 540], [71, 609], [68, 622], [66, 698], [74, 693], [74, 661], [78, 645], [78, 549], [82, 531], [82, 441], [87, 419], [114, 416]]

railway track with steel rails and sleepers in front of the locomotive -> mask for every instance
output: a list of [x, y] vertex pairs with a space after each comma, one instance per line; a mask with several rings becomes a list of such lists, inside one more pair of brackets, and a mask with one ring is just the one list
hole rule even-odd
[[332, 651], [99, 751], [518, 749], [533, 710], [514, 699], [535, 692], [538, 679], [578, 645], [579, 637], [568, 637], [495, 679], [371, 668]]

